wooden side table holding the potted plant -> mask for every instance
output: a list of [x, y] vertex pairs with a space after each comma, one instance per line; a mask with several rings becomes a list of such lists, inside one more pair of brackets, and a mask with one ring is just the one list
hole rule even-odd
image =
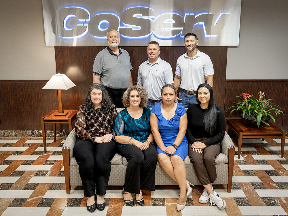
[[262, 128], [251, 128], [243, 124], [242, 119], [226, 119], [226, 132], [230, 127], [238, 136], [238, 159], [240, 158], [242, 139], [243, 138], [281, 138], [281, 158], [284, 157], [284, 146], [286, 133], [277, 128], [271, 122], [268, 122], [270, 126], [264, 125]]

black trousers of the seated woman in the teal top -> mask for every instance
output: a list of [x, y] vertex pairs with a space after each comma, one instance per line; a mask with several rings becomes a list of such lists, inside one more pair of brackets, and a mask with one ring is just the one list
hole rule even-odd
[[155, 190], [155, 169], [158, 160], [156, 147], [150, 145], [142, 151], [135, 145], [119, 147], [120, 154], [128, 162], [124, 191], [139, 194], [140, 190]]

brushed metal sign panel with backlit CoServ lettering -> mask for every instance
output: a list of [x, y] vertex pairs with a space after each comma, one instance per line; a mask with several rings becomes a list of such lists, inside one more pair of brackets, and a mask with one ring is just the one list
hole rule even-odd
[[121, 46], [183, 46], [193, 32], [200, 46], [238, 46], [241, 0], [42, 0], [46, 46], [107, 46], [117, 29]]

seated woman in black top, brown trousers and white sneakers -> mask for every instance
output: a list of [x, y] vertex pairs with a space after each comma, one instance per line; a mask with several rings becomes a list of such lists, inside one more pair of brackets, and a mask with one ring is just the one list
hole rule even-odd
[[197, 178], [205, 187], [199, 202], [207, 203], [210, 200], [211, 205], [214, 203], [219, 209], [224, 209], [226, 202], [213, 191], [212, 183], [217, 178], [215, 158], [221, 151], [220, 142], [225, 134], [226, 120], [223, 110], [214, 103], [209, 84], [200, 84], [196, 94], [199, 103], [187, 109], [186, 137], [190, 143], [188, 156]]

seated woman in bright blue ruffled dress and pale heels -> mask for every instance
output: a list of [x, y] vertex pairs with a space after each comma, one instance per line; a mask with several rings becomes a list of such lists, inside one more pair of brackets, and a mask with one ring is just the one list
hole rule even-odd
[[186, 180], [184, 160], [188, 154], [188, 141], [185, 137], [187, 128], [186, 109], [175, 103], [177, 91], [168, 84], [162, 87], [163, 102], [156, 103], [151, 110], [150, 124], [157, 143], [158, 161], [164, 171], [178, 183], [180, 194], [177, 210], [185, 208], [186, 196], [190, 196], [192, 188]]

